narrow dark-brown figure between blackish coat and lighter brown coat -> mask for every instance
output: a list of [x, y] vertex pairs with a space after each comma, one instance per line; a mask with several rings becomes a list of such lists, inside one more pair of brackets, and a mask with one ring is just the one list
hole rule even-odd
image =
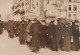
[[61, 48], [62, 35], [61, 35], [61, 22], [60, 22], [60, 20], [57, 20], [57, 25], [55, 25], [54, 36], [56, 37], [57, 50], [62, 50], [62, 48]]

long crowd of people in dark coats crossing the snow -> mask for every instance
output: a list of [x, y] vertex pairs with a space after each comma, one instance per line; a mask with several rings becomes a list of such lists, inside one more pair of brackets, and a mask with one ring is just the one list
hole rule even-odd
[[28, 45], [32, 52], [41, 48], [53, 51], [78, 51], [79, 50], [79, 22], [67, 22], [57, 19], [47, 23], [38, 21], [0, 21], [0, 34], [7, 30], [10, 38], [19, 37], [21, 45]]

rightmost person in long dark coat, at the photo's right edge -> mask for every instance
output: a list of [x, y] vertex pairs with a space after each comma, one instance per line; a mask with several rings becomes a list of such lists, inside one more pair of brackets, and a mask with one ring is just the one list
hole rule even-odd
[[71, 31], [73, 36], [73, 42], [72, 42], [72, 50], [78, 51], [79, 50], [79, 26], [77, 25], [78, 21], [75, 20], [75, 22], [72, 23]]

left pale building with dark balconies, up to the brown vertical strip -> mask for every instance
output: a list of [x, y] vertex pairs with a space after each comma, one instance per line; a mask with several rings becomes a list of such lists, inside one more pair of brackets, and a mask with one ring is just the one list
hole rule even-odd
[[14, 1], [12, 9], [15, 18], [44, 19], [44, 0], [17, 0]]

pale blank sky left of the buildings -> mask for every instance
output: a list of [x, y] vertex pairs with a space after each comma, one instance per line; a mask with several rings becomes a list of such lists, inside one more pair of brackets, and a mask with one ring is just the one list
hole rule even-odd
[[2, 20], [11, 13], [12, 4], [13, 0], [0, 0], [0, 14], [2, 15]]

